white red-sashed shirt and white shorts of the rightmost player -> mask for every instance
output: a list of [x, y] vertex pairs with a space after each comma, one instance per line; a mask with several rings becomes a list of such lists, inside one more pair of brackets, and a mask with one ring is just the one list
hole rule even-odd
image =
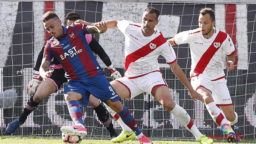
[[191, 51], [191, 85], [194, 90], [204, 87], [212, 93], [217, 106], [232, 105], [222, 60], [223, 51], [227, 56], [235, 53], [234, 44], [227, 33], [214, 28], [214, 34], [206, 39], [200, 28], [183, 31], [174, 36], [177, 45], [188, 43]]

